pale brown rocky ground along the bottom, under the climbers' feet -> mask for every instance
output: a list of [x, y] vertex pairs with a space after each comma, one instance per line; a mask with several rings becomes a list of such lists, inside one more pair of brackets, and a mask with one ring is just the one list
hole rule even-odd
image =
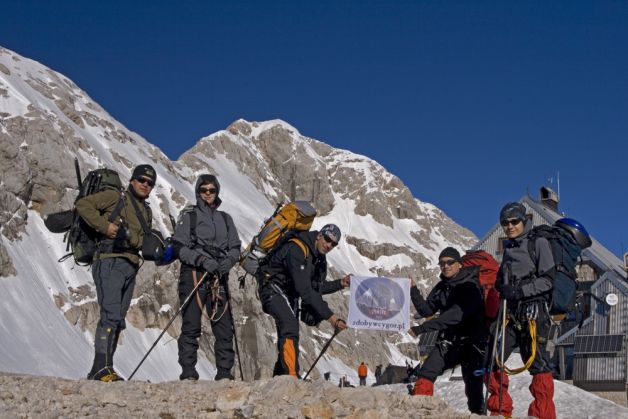
[[[473, 415], [475, 416], [475, 415]], [[100, 383], [0, 374], [1, 418], [469, 418], [442, 400], [277, 377]]]

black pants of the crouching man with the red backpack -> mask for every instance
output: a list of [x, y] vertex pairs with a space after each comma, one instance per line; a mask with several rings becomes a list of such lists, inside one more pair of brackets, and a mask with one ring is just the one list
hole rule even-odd
[[[484, 411], [482, 377], [484, 350], [483, 343], [474, 343], [470, 339], [453, 343], [438, 341], [419, 369], [418, 376], [434, 382], [446, 369], [460, 364], [469, 411], [482, 414]], [[479, 373], [476, 374], [476, 371]]]

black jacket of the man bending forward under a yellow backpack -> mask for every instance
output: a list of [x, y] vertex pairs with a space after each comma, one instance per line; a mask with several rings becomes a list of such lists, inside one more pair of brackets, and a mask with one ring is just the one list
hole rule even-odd
[[[283, 244], [260, 267], [261, 286], [274, 283], [288, 298], [300, 297], [321, 319], [333, 312], [321, 297], [342, 289], [340, 280], [327, 281], [327, 258], [314, 245], [318, 231], [304, 231], [286, 238]], [[299, 240], [308, 248], [308, 255], [291, 239]]]

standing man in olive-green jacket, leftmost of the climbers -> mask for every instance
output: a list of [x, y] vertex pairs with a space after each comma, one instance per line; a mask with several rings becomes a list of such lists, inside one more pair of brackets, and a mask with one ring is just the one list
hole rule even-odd
[[87, 374], [90, 380], [122, 380], [113, 369], [113, 354], [120, 332], [126, 327], [124, 319], [133, 297], [144, 239], [132, 201], [150, 226], [152, 213], [146, 199], [156, 180], [155, 169], [142, 164], [133, 170], [126, 191], [105, 190], [76, 202], [81, 218], [100, 235], [92, 265], [100, 320], [94, 336], [94, 363]]

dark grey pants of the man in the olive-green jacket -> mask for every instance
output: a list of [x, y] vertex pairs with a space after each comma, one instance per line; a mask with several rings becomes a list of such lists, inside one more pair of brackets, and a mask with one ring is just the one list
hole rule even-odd
[[131, 305], [136, 274], [137, 265], [123, 257], [98, 259], [92, 265], [100, 308], [94, 352], [106, 356], [106, 366], [113, 366], [118, 337], [126, 328], [124, 319]]

